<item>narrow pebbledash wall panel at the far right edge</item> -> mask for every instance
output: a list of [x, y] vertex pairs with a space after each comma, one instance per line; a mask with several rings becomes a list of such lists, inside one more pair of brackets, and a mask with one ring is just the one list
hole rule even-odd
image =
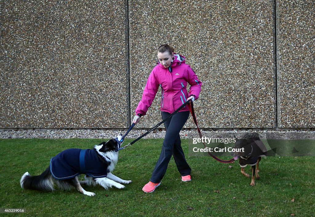
[[276, 1], [278, 123], [315, 127], [315, 1]]

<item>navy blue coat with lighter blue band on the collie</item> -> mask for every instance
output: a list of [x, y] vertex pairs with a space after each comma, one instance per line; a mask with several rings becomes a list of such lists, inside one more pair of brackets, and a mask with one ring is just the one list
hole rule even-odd
[[85, 174], [94, 178], [107, 176], [107, 164], [95, 149], [66, 149], [50, 160], [51, 175], [55, 179], [71, 179]]

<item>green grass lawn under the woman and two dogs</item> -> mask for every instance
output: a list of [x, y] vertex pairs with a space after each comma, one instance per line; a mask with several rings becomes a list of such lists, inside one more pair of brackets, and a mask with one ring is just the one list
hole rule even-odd
[[[238, 163], [222, 164], [211, 157], [189, 157], [192, 181], [182, 182], [171, 159], [161, 185], [142, 192], [159, 156], [162, 139], [142, 139], [119, 152], [115, 175], [132, 180], [124, 189], [95, 192], [38, 192], [20, 187], [26, 171], [39, 175], [50, 158], [67, 148], [92, 148], [99, 139], [1, 139], [0, 208], [24, 208], [29, 216], [314, 216], [315, 158], [266, 157], [260, 180], [240, 173]], [[124, 144], [131, 140], [126, 139]], [[188, 153], [188, 140], [182, 146]], [[229, 159], [225, 157], [225, 159]], [[232, 168], [229, 168], [232, 165]], [[245, 169], [249, 173], [249, 167]], [[1, 214], [3, 215], [3, 214]], [[8, 214], [11, 215], [11, 214]]]

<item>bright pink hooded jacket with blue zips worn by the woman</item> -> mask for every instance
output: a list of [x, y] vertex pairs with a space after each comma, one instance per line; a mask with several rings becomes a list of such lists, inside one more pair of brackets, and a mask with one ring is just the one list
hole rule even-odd
[[[186, 102], [186, 99], [194, 95], [198, 99], [202, 82], [198, 80], [195, 72], [185, 64], [185, 57], [174, 54], [171, 66], [164, 68], [159, 62], [149, 75], [143, 91], [142, 99], [135, 109], [136, 114], [145, 115], [151, 106], [159, 86], [161, 87], [161, 111], [173, 113]], [[190, 85], [187, 93], [187, 83]], [[189, 111], [185, 106], [180, 111]]]

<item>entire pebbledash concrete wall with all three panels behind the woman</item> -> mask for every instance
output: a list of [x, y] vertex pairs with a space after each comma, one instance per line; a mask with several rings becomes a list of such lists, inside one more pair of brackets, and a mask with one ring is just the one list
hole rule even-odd
[[163, 43], [203, 81], [200, 127], [315, 127], [314, 6], [4, 0], [0, 128], [128, 127]]

